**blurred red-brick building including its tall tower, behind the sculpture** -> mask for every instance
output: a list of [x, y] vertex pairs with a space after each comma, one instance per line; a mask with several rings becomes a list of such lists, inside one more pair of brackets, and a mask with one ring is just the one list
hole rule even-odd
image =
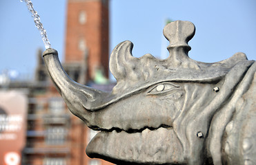
[[[63, 68], [78, 83], [111, 91], [115, 83], [108, 82], [108, 0], [68, 0], [67, 3]], [[87, 157], [86, 146], [97, 132], [88, 129], [67, 109], [48, 77], [41, 54], [39, 50], [34, 82], [10, 81], [4, 85], [28, 97], [22, 164], [110, 164]]]

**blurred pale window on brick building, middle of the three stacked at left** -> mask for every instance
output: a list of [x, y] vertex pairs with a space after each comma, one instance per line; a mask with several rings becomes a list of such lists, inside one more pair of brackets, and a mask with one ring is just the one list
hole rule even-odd
[[48, 126], [45, 141], [49, 145], [61, 145], [66, 142], [67, 131], [63, 126]]

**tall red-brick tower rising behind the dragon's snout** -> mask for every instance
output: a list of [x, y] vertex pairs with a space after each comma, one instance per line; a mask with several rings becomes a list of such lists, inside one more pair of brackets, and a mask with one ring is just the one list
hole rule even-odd
[[72, 69], [79, 83], [92, 80], [95, 69], [108, 77], [108, 0], [68, 0], [65, 63], [86, 65]]

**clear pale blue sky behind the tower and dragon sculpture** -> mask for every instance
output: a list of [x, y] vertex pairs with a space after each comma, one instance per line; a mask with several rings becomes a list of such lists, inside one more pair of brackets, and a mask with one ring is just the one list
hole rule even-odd
[[[43, 27], [60, 58], [64, 56], [66, 0], [32, 0]], [[166, 58], [166, 19], [191, 21], [196, 34], [189, 42], [190, 58], [213, 63], [235, 52], [256, 59], [255, 0], [110, 0], [110, 51], [121, 41], [134, 43], [132, 54]], [[37, 49], [43, 41], [25, 3], [0, 1], [0, 73], [15, 69], [33, 74]]]

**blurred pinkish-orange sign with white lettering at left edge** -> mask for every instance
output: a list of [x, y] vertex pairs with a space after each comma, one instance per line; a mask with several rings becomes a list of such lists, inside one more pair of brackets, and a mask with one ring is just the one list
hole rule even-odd
[[0, 164], [20, 165], [26, 144], [28, 99], [18, 91], [0, 91]]

